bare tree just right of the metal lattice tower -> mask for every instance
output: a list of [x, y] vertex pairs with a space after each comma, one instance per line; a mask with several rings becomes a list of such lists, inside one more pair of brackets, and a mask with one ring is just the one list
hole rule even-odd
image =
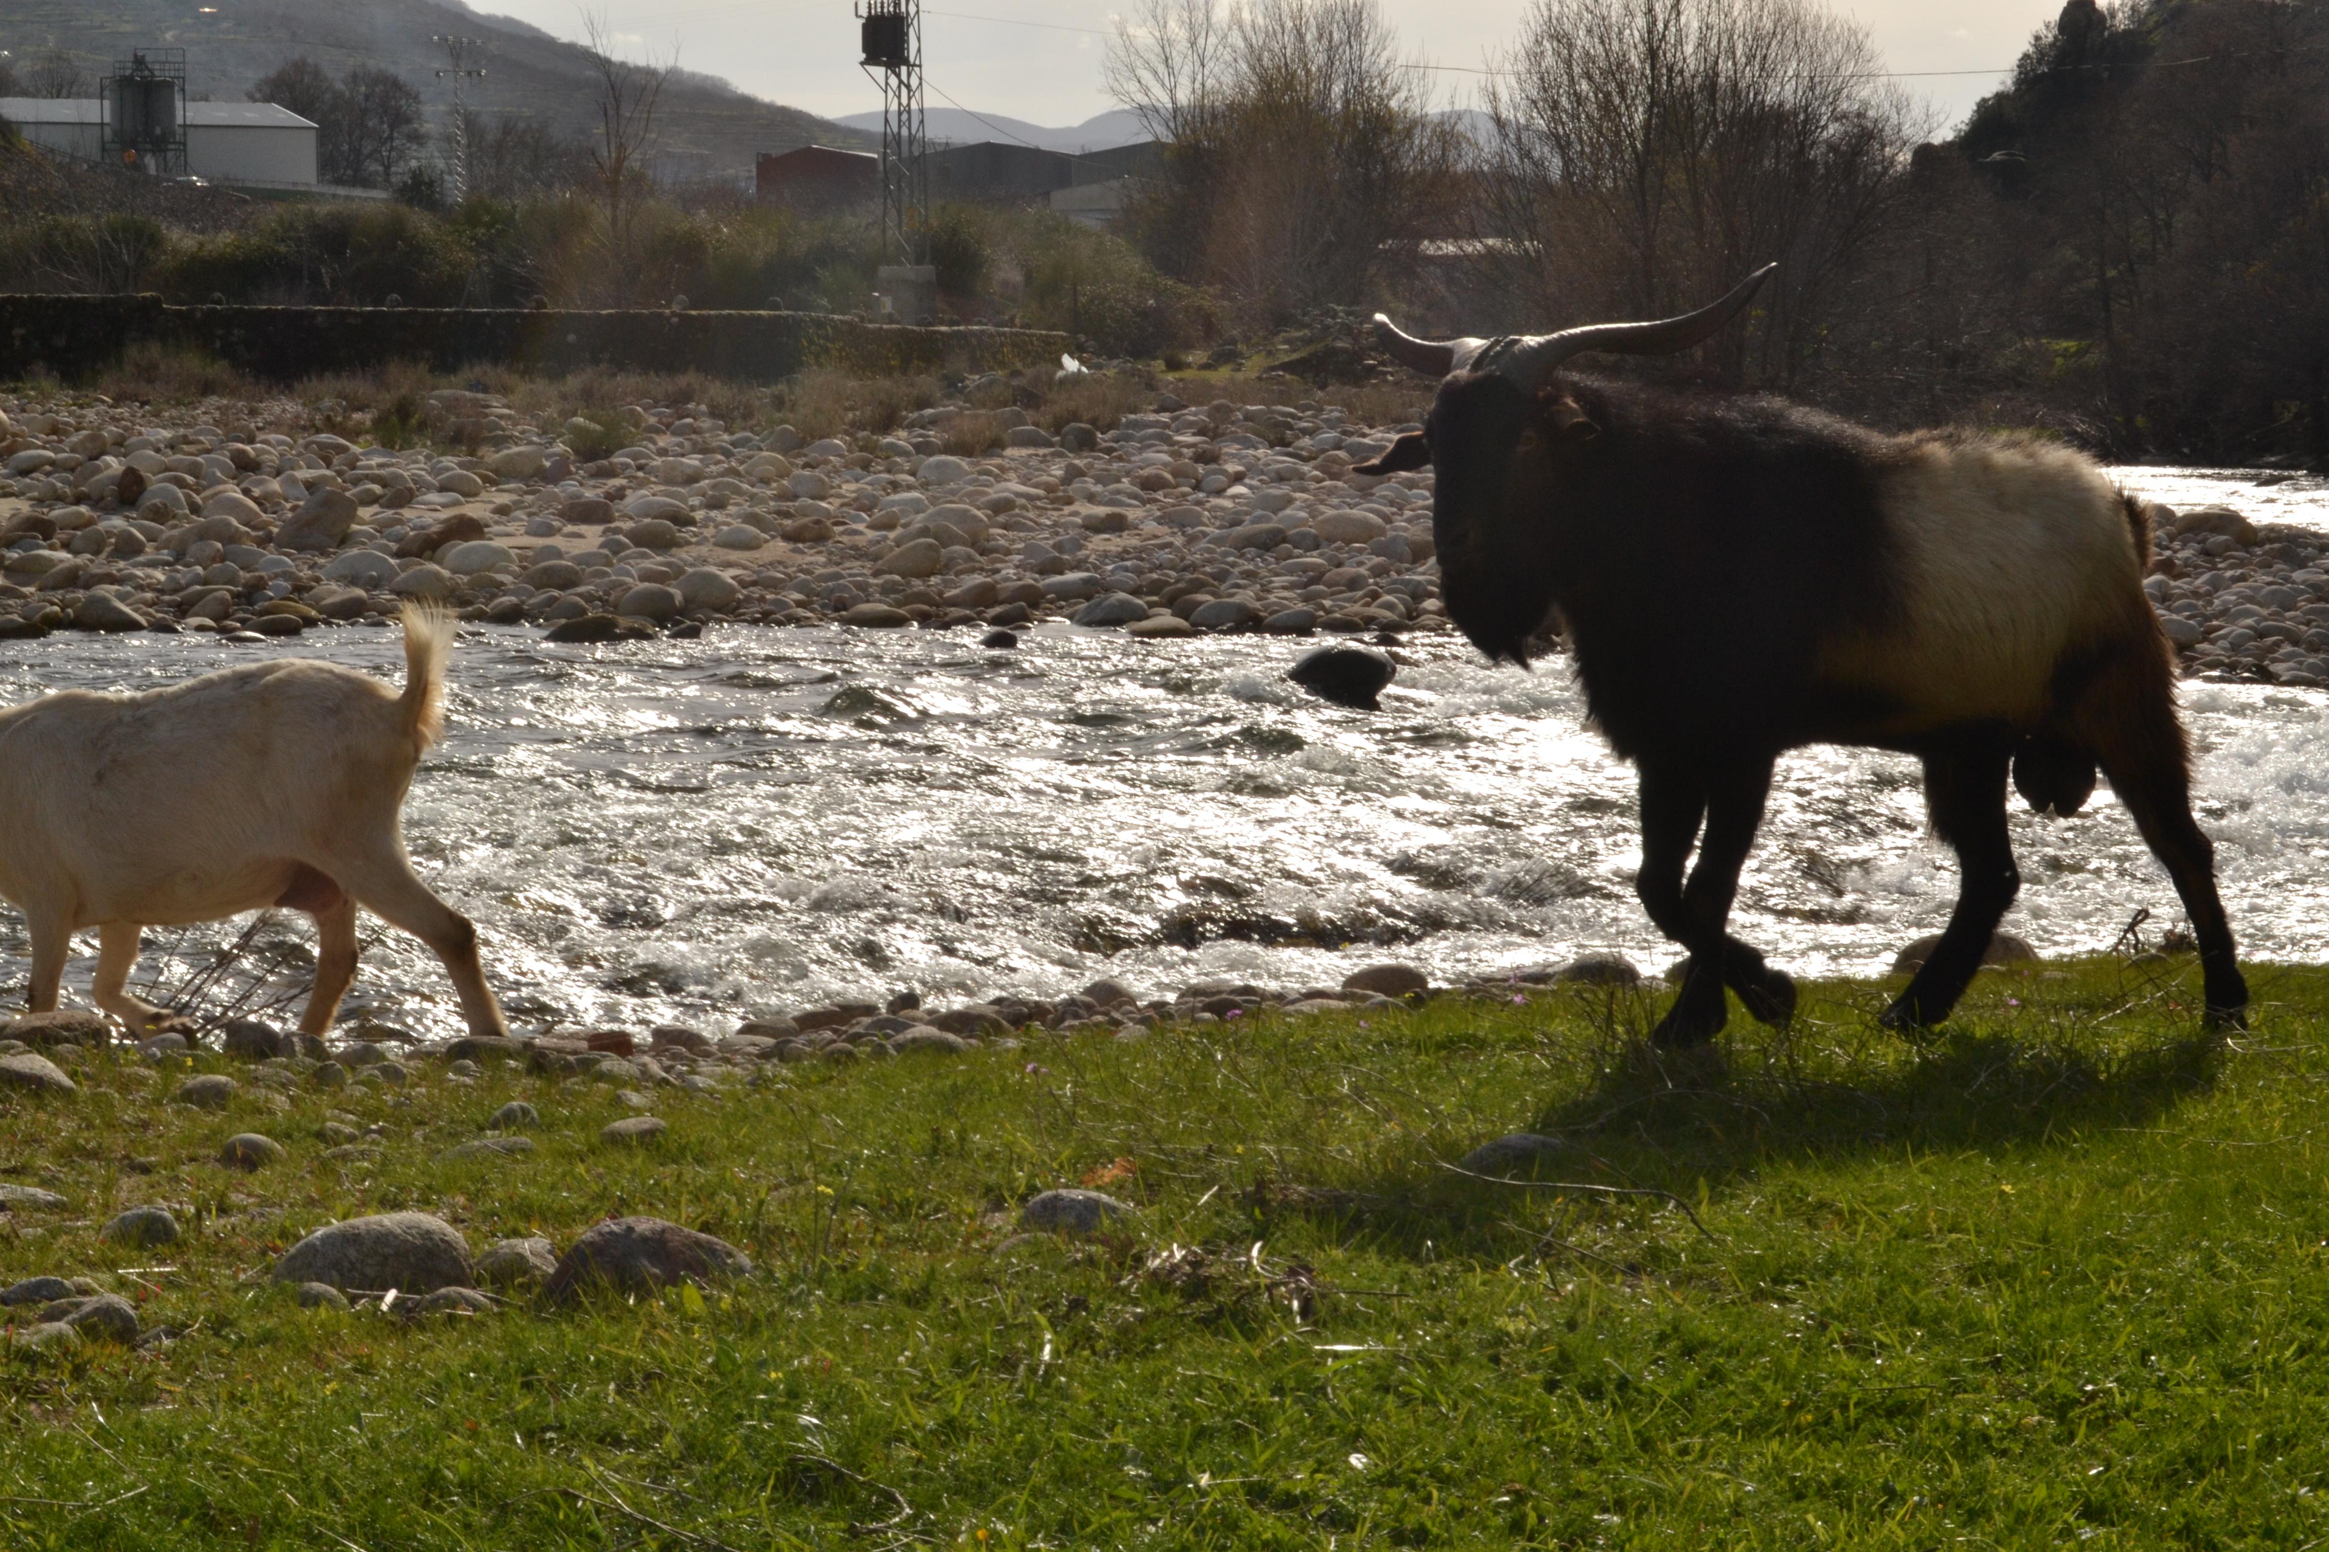
[[1106, 81], [1167, 144], [1144, 247], [1248, 323], [1369, 300], [1456, 191], [1460, 140], [1374, 0], [1148, 0]]

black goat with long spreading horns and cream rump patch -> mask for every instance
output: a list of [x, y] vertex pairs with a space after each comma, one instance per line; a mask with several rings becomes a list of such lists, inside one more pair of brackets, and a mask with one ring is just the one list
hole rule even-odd
[[1723, 984], [1765, 1024], [1793, 1012], [1793, 982], [1726, 924], [1772, 763], [1812, 742], [1919, 756], [1963, 866], [1940, 947], [1886, 1024], [1949, 1015], [2022, 887], [2008, 770], [2033, 807], [2070, 814], [2096, 766], [2175, 880], [2210, 1021], [2238, 1024], [2247, 984], [2143, 593], [2150, 531], [2101, 470], [2036, 440], [1891, 437], [1772, 398], [1560, 370], [1581, 351], [1689, 349], [1765, 275], [1661, 323], [1428, 342], [1374, 321], [1395, 358], [1444, 382], [1425, 430], [1360, 472], [1437, 468], [1449, 617], [1525, 665], [1558, 612], [1593, 721], [1640, 770], [1635, 889], [1689, 949], [1656, 1040], [1712, 1040]]

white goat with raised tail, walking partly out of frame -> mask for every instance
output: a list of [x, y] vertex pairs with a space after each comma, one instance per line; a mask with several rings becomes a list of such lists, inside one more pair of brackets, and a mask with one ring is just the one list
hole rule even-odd
[[33, 1012], [56, 1008], [72, 933], [98, 928], [98, 1008], [133, 1031], [170, 1012], [126, 991], [144, 926], [289, 905], [314, 917], [321, 1035], [356, 977], [356, 905], [426, 942], [473, 1035], [505, 1035], [477, 928], [412, 875], [398, 817], [443, 733], [452, 621], [405, 610], [405, 691], [279, 658], [135, 696], [61, 691], [0, 712], [0, 896], [33, 935]]

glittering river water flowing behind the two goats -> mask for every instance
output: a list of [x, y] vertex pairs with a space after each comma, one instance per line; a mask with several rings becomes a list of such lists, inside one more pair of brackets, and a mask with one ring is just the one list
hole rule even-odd
[[[2287, 510], [2268, 514], [2245, 482], [2129, 482], [2329, 526], [2317, 482], [2275, 486]], [[983, 652], [962, 631], [729, 626], [550, 647], [475, 628], [405, 833], [422, 877], [484, 931], [519, 1026], [722, 1028], [838, 994], [1057, 994], [1099, 975], [1141, 996], [1211, 977], [1318, 987], [1381, 959], [1435, 980], [1584, 949], [1672, 961], [1630, 891], [1633, 777], [1581, 726], [1560, 658], [1491, 670], [1418, 638], [1365, 714], [1283, 679], [1309, 645], [1046, 626]], [[403, 670], [396, 631], [54, 635], [0, 645], [0, 700], [277, 652]], [[2185, 684], [2185, 707], [2247, 954], [2329, 956], [2329, 696]], [[2103, 949], [2138, 907], [2178, 919], [2108, 789], [2070, 821], [2017, 805], [2012, 831], [2026, 884], [2008, 928], [2040, 952]], [[1940, 928], [1954, 891], [1912, 761], [1807, 749], [1782, 761], [1735, 931], [1796, 973], [1877, 973]], [[200, 961], [233, 933], [151, 942], [158, 961]], [[77, 947], [68, 984], [86, 1001], [95, 942]], [[26, 968], [21, 919], [0, 912], [0, 975]], [[396, 933], [368, 947], [349, 1008], [459, 1028], [440, 968]]]

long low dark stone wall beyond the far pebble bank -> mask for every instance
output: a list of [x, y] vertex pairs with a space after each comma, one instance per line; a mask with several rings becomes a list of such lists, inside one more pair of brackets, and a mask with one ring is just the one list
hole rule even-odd
[[440, 372], [713, 372], [776, 382], [804, 368], [859, 375], [1046, 365], [1067, 335], [904, 328], [817, 312], [529, 312], [517, 307], [168, 307], [158, 296], [0, 296], [0, 379], [44, 365], [68, 382], [130, 344], [217, 356], [275, 382], [419, 361]]

